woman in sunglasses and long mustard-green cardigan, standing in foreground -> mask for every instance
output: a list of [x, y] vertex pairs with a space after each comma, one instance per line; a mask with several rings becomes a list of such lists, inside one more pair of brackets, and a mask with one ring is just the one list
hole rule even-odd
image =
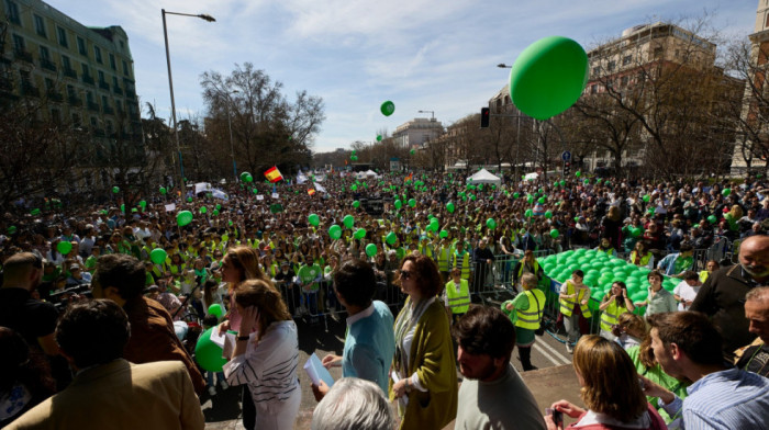
[[457, 415], [457, 372], [448, 318], [436, 295], [441, 275], [425, 256], [403, 259], [401, 290], [409, 297], [395, 319], [398, 377], [390, 398], [398, 398], [401, 429], [442, 429]]

